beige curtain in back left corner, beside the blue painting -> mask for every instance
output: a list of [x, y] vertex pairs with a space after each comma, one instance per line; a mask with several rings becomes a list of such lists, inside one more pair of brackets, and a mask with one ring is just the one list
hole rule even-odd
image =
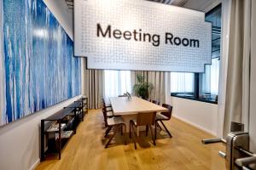
[[102, 108], [103, 98], [103, 71], [87, 70], [84, 59], [83, 94], [88, 97], [89, 109]]

